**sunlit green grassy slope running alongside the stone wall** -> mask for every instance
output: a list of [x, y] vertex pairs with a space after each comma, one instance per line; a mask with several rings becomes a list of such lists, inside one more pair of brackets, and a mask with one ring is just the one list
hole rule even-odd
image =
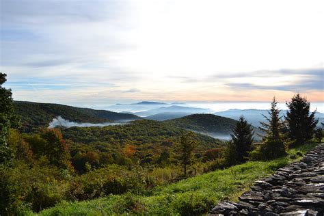
[[[307, 144], [289, 150], [288, 153], [289, 155], [297, 151], [305, 153], [314, 146], [316, 144]], [[111, 215], [127, 212], [149, 215], [202, 214], [220, 200], [237, 200], [237, 196], [246, 191], [254, 180], [267, 176], [291, 162], [289, 156], [273, 161], [247, 162], [226, 170], [217, 170], [164, 187], [157, 187], [150, 195], [110, 195], [84, 202], [62, 202], [40, 212], [39, 215], [57, 213]]]

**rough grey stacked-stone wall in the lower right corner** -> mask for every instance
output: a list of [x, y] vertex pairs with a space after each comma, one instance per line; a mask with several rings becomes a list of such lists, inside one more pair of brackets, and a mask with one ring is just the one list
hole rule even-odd
[[257, 180], [239, 202], [219, 202], [209, 215], [323, 215], [324, 144], [299, 162]]

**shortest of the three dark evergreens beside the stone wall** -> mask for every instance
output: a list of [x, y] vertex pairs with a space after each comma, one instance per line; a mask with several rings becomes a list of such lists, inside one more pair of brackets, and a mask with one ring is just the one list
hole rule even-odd
[[236, 126], [232, 130], [232, 142], [237, 149], [237, 161], [244, 163], [249, 157], [249, 151], [251, 151], [253, 142], [253, 129], [251, 124], [247, 123], [247, 120], [243, 116], [239, 118]]

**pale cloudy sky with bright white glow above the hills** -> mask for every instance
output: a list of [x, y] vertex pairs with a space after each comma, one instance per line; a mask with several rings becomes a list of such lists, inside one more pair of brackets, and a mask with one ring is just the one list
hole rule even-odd
[[0, 0], [15, 100], [324, 101], [324, 1]]

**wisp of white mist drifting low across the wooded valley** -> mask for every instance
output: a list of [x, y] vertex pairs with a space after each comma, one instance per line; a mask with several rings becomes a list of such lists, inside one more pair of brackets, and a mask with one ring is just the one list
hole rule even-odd
[[63, 126], [65, 128], [70, 128], [72, 126], [79, 126], [79, 127], [87, 127], [87, 126], [110, 126], [110, 125], [118, 125], [118, 124], [125, 124], [120, 122], [105, 122], [105, 123], [79, 123], [79, 122], [70, 122], [70, 120], [66, 120], [62, 118], [61, 116], [57, 116], [56, 118], [53, 118], [51, 122], [49, 122], [49, 129], [53, 129], [56, 126]]

